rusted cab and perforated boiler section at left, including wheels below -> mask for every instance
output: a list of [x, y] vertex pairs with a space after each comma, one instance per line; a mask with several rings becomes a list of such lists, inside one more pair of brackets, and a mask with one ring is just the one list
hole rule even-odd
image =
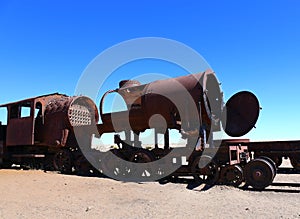
[[[0, 125], [0, 162], [72, 171], [82, 159], [74, 129], [94, 126], [98, 110], [88, 97], [49, 94], [0, 105], [7, 124]], [[85, 131], [87, 129], [84, 129]], [[87, 133], [85, 133], [87, 134]], [[90, 134], [87, 134], [87, 141]]]

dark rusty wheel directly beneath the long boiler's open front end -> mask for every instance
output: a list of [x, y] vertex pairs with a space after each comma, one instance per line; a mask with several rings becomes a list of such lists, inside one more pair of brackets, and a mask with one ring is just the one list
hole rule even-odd
[[192, 163], [191, 169], [197, 182], [214, 185], [219, 180], [219, 167], [210, 156], [197, 157]]

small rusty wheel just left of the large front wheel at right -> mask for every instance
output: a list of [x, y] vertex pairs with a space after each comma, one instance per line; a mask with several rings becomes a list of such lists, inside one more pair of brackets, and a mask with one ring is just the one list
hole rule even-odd
[[221, 170], [221, 179], [225, 184], [238, 187], [244, 180], [243, 169], [238, 166], [226, 166]]

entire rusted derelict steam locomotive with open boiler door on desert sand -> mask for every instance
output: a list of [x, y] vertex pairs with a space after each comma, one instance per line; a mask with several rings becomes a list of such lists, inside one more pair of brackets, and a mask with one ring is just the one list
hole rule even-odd
[[[104, 113], [110, 93], [119, 94], [127, 109]], [[20, 164], [63, 173], [93, 171], [122, 180], [135, 176], [139, 181], [192, 176], [207, 184], [239, 186], [245, 181], [263, 189], [272, 183], [282, 157], [289, 157], [296, 170], [300, 166], [298, 141], [264, 144], [214, 139], [213, 133], [222, 128], [232, 137], [248, 133], [260, 107], [248, 91], [238, 92], [224, 104], [219, 82], [210, 70], [149, 84], [121, 81], [119, 88], [103, 95], [100, 115], [90, 98], [57, 93], [0, 107], [7, 108], [7, 124], [0, 125], [3, 167]], [[140, 140], [146, 130], [154, 132], [151, 147]], [[173, 147], [170, 130], [178, 131], [185, 145]], [[91, 136], [106, 133], [115, 133], [116, 146], [105, 152], [92, 149]], [[162, 146], [158, 135], [163, 135]], [[160, 160], [164, 162], [155, 167], [140, 165], [142, 171], [131, 165]]]

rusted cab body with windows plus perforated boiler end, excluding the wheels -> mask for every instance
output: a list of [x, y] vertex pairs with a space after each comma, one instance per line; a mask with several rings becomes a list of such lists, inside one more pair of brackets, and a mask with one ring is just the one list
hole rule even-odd
[[[73, 127], [95, 125], [98, 111], [87, 97], [50, 94], [14, 103], [7, 107], [6, 146], [47, 145], [65, 146]], [[29, 112], [23, 116], [22, 107]], [[72, 135], [74, 138], [74, 135]]]

